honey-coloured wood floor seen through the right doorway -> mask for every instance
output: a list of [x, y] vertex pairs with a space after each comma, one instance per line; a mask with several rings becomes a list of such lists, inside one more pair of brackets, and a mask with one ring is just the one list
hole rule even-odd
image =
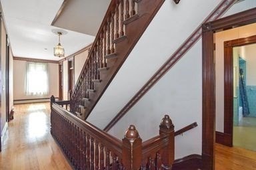
[[215, 144], [216, 170], [255, 170], [256, 152]]

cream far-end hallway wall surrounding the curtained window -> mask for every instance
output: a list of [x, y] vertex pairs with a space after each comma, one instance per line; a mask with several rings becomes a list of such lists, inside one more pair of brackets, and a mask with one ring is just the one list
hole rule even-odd
[[25, 94], [26, 64], [24, 60], [13, 60], [13, 100], [49, 98], [51, 95], [59, 96], [59, 64], [48, 63], [49, 68], [49, 94], [45, 96], [27, 96]]

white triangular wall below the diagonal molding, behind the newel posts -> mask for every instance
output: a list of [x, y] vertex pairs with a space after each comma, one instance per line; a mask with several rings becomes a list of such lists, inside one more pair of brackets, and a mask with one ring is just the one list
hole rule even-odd
[[146, 140], [159, 133], [161, 118], [169, 114], [175, 131], [193, 122], [199, 125], [175, 137], [175, 159], [201, 154], [201, 66], [199, 41], [109, 132], [121, 139], [128, 126], [134, 124]]

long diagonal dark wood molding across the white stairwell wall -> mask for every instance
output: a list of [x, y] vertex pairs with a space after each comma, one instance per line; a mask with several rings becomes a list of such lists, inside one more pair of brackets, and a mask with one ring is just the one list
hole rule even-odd
[[[235, 0], [222, 1], [213, 12], [203, 21], [209, 22], [221, 17], [221, 15], [233, 5]], [[133, 98], [125, 105], [125, 107], [109, 122], [105, 127], [105, 131], [109, 131], [123, 116], [146, 94], [162, 77], [165, 75], [187, 51], [201, 38], [201, 25], [189, 36], [189, 38], [181, 44], [181, 46], [170, 56], [170, 58], [157, 70], [157, 72], [147, 81], [147, 83], [133, 96]]]

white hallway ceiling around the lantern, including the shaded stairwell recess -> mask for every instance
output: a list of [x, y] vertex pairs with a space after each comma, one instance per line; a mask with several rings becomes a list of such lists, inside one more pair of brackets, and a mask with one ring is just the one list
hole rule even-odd
[[[53, 29], [64, 28], [62, 30], [67, 31], [67, 35], [61, 37], [61, 44], [65, 48], [65, 56], [69, 56], [91, 44], [95, 39], [95, 34], [100, 27], [109, 3], [106, 3], [106, 0], [81, 0], [78, 3], [79, 1], [75, 1], [75, 4], [71, 3], [74, 1], [66, 3], [63, 13], [59, 15], [55, 22], [58, 27], [55, 27], [51, 26], [51, 23], [61, 8], [63, 0], [1, 0], [13, 56], [60, 60], [61, 58], [53, 56], [53, 46], [58, 42], [57, 35], [52, 32]], [[81, 6], [97, 9], [97, 12], [96, 10], [85, 11]], [[72, 15], [73, 11], [75, 11], [75, 15]], [[91, 16], [93, 20], [83, 20], [81, 16]], [[94, 18], [96, 19], [95, 23]], [[59, 21], [59, 19], [61, 20]], [[86, 28], [87, 22], [90, 23], [88, 29]]]

